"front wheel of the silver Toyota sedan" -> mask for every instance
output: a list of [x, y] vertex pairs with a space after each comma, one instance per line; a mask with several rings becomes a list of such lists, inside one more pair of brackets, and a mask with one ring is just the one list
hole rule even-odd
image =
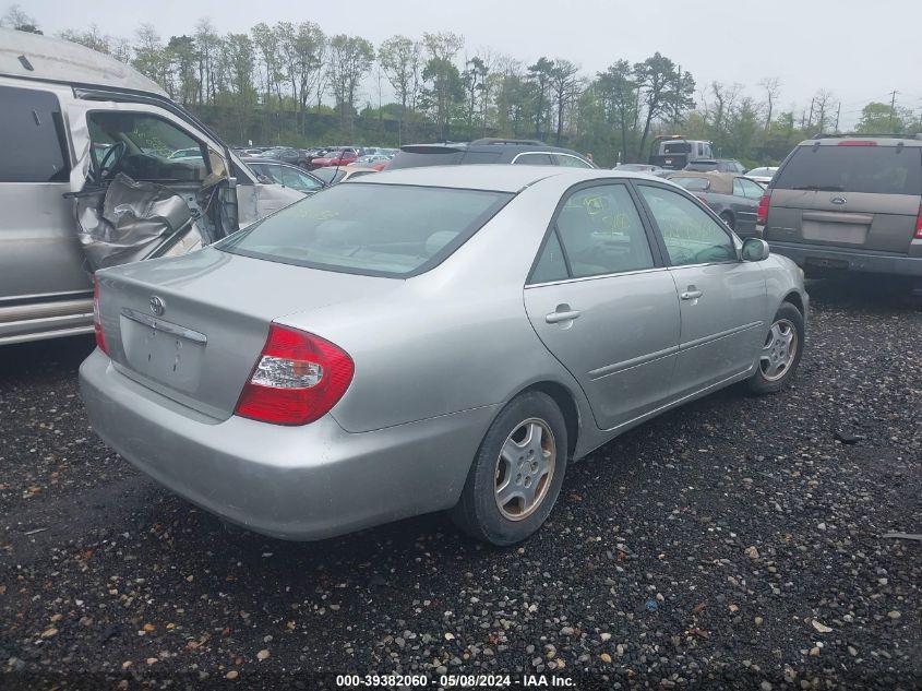
[[746, 381], [756, 394], [781, 391], [793, 379], [803, 354], [803, 315], [790, 302], [782, 302], [766, 333], [758, 365]]

